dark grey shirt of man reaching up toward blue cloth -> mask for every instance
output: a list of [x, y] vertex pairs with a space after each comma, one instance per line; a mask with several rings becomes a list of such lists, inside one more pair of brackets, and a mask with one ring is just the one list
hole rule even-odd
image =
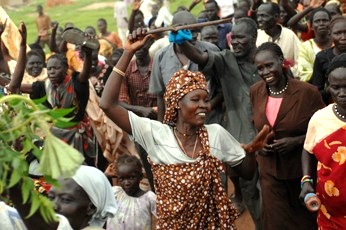
[[248, 143], [256, 135], [252, 123], [252, 109], [249, 97], [250, 86], [260, 80], [253, 63], [240, 62], [229, 50], [211, 52], [204, 74], [215, 74], [221, 83], [226, 106], [224, 127], [240, 143]]

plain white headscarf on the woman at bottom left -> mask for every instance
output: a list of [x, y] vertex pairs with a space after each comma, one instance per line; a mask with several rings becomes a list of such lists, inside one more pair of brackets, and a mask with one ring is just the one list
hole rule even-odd
[[89, 226], [103, 227], [107, 218], [116, 212], [116, 201], [112, 186], [103, 172], [95, 167], [81, 165], [72, 179], [88, 194], [96, 207]]

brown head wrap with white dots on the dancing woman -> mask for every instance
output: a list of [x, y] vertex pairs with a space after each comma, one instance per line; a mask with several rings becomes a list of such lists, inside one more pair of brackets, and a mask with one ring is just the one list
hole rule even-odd
[[166, 92], [163, 95], [166, 104], [163, 123], [176, 123], [179, 100], [196, 89], [203, 89], [208, 92], [207, 81], [201, 72], [191, 72], [189, 70], [180, 69], [173, 74], [166, 86]]

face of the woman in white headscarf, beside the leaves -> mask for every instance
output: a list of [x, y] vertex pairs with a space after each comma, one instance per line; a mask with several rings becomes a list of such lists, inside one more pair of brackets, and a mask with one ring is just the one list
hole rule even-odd
[[59, 183], [59, 188], [52, 187], [48, 193], [48, 198], [55, 204], [55, 211], [65, 216], [73, 229], [86, 227], [96, 208], [73, 179], [61, 179]]

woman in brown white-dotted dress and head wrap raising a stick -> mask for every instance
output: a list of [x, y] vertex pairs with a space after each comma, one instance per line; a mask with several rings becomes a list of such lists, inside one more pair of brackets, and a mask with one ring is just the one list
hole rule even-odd
[[126, 67], [150, 39], [144, 30], [137, 32], [130, 35], [100, 106], [148, 152], [157, 192], [157, 229], [233, 229], [238, 213], [220, 180], [222, 162], [251, 178], [256, 168], [253, 152], [264, 146], [268, 127], [241, 146], [220, 125], [204, 125], [210, 110], [206, 80], [202, 73], [187, 70], [177, 71], [167, 85], [163, 124], [121, 107], [118, 96]]

